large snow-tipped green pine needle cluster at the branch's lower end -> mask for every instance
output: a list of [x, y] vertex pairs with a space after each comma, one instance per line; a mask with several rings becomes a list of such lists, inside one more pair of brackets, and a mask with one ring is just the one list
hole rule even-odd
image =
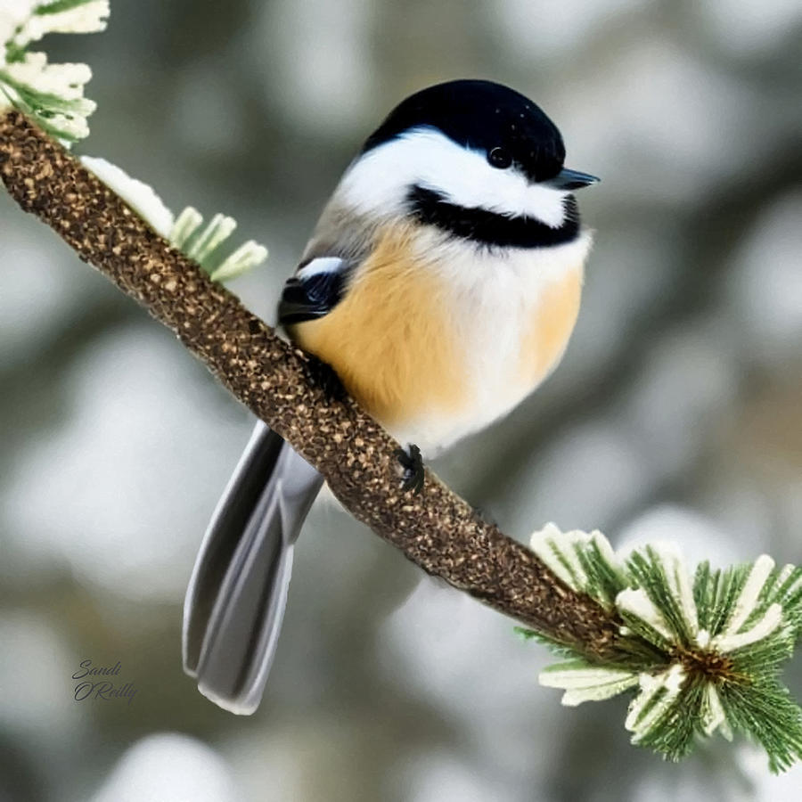
[[764, 747], [773, 771], [802, 759], [802, 710], [779, 679], [802, 631], [802, 569], [775, 569], [763, 555], [725, 570], [702, 563], [692, 577], [671, 547], [648, 546], [624, 560], [601, 533], [553, 524], [531, 546], [621, 621], [617, 661], [601, 665], [569, 651], [573, 659], [541, 673], [542, 684], [565, 692], [563, 704], [634, 689], [625, 722], [632, 741], [666, 757], [683, 757], [715, 732], [728, 740], [741, 732]]

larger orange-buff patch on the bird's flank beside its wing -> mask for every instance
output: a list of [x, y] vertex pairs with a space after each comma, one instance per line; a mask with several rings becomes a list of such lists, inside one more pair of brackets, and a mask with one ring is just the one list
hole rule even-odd
[[463, 349], [445, 314], [449, 287], [413, 257], [409, 238], [382, 236], [340, 303], [290, 330], [386, 426], [448, 414], [466, 400]]

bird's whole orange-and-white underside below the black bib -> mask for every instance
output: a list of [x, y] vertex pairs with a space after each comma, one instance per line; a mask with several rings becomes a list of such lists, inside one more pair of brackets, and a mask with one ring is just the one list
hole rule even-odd
[[[472, 253], [461, 264], [452, 252], [439, 258], [456, 261], [434, 264], [413, 237], [398, 228], [381, 236], [340, 303], [290, 333], [390, 431], [437, 447], [508, 413], [559, 363], [585, 250], [556, 270], [543, 253], [511, 265]], [[473, 279], [460, 282], [468, 271]]]

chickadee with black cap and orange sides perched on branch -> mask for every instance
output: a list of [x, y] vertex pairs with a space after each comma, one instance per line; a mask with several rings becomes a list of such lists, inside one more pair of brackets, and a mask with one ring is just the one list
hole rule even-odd
[[[591, 234], [560, 131], [506, 86], [431, 86], [370, 135], [323, 209], [279, 320], [402, 443], [434, 454], [527, 397], [577, 320]], [[184, 602], [184, 670], [261, 700], [292, 548], [323, 478], [258, 423]]]

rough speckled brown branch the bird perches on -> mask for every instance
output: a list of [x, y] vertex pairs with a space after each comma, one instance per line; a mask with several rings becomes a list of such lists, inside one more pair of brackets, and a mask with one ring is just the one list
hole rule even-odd
[[17, 111], [0, 118], [0, 175], [22, 209], [175, 331], [234, 397], [313, 464], [356, 519], [495, 610], [589, 657], [615, 655], [615, 618], [430, 471], [420, 495], [403, 494], [397, 443], [378, 423], [351, 399], [329, 403], [299, 350]]

